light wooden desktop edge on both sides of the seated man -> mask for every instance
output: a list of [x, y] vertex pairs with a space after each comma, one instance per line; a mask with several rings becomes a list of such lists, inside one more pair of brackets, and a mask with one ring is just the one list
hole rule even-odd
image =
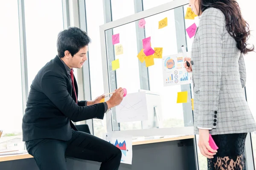
[[[132, 145], [140, 145], [140, 144], [151, 144], [151, 143], [158, 143], [158, 142], [168, 142], [168, 141], [175, 141], [175, 140], [183, 140], [183, 139], [193, 139], [195, 138], [194, 135], [189, 136], [167, 136], [164, 138], [159, 139], [143, 139], [143, 140], [134, 140], [132, 142]], [[16, 154], [16, 155], [3, 155], [0, 156], [0, 162], [2, 161], [13, 161], [18, 159], [28, 159], [33, 158], [33, 156], [29, 155], [29, 153], [22, 153], [22, 154]]]

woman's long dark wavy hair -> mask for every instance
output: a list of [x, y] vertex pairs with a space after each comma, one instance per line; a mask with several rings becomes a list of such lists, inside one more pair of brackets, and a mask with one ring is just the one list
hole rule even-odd
[[243, 54], [254, 50], [247, 47], [247, 40], [250, 37], [248, 23], [241, 15], [241, 10], [236, 0], [199, 0], [199, 14], [207, 8], [218, 8], [226, 17], [226, 28], [229, 34], [236, 40], [236, 47]]

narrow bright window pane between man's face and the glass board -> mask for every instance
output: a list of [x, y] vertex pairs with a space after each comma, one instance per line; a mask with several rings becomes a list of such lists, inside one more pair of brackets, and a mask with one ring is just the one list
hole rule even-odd
[[[104, 94], [103, 75], [102, 75], [102, 57], [99, 41], [99, 26], [104, 24], [103, 1], [95, 2], [93, 0], [85, 1], [87, 16], [87, 33], [92, 40], [89, 44], [88, 59], [90, 65], [90, 88], [91, 97], [95, 99], [97, 96]], [[95, 10], [95, 9], [98, 10]], [[93, 133], [95, 136], [102, 138], [102, 133], [107, 132], [105, 117], [101, 119], [93, 119]]]

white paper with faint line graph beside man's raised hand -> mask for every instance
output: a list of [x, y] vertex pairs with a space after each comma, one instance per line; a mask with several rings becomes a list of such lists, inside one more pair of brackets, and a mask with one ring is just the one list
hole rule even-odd
[[134, 122], [148, 119], [145, 92], [127, 94], [116, 106], [117, 122]]

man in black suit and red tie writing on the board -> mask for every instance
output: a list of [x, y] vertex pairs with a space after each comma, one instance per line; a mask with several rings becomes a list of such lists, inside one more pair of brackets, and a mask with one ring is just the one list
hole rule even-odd
[[122, 88], [107, 102], [104, 95], [93, 101], [77, 101], [78, 87], [72, 68], [87, 59], [90, 38], [72, 27], [58, 34], [58, 55], [35, 76], [23, 116], [23, 141], [40, 170], [67, 170], [65, 156], [102, 162], [100, 170], [118, 170], [121, 151], [102, 139], [80, 132], [73, 125], [87, 119], [103, 119], [106, 111], [119, 105]]

